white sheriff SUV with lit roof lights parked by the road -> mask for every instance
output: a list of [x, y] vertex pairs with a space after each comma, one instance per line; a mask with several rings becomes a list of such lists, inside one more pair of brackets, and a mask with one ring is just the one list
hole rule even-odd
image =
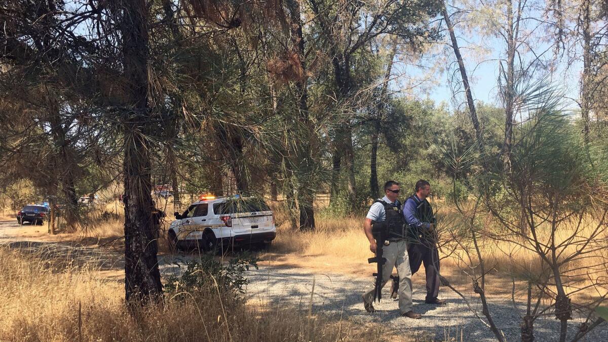
[[176, 250], [223, 253], [234, 246], [268, 248], [277, 236], [274, 215], [259, 198], [201, 197], [174, 215], [167, 237]]

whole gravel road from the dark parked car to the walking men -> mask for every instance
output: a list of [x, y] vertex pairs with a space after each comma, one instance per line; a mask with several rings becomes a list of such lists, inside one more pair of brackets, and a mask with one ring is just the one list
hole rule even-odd
[[[28, 231], [29, 229], [29, 231]], [[41, 231], [36, 233], [32, 230]], [[0, 222], [0, 244], [19, 249], [28, 253], [38, 253], [45, 259], [68, 260], [68, 263], [92, 265], [100, 270], [100, 274], [109, 279], [123, 279], [123, 246], [120, 240], [105, 242], [96, 239], [85, 239], [80, 242], [62, 241], [61, 236], [52, 237], [53, 241], [43, 241], [46, 227], [19, 226], [16, 222]], [[47, 236], [46, 236], [47, 237]], [[195, 254], [161, 255], [159, 267], [163, 274], [179, 272], [176, 264], [196, 259]], [[356, 274], [353, 274], [356, 273]], [[371, 284], [371, 277], [358, 275], [357, 270], [345, 270], [344, 274], [325, 272], [296, 267], [294, 265], [279, 265], [277, 262], [266, 260], [260, 263], [259, 270], [247, 273], [249, 285], [247, 297], [252, 304], [262, 303], [271, 307], [294, 307], [308, 311], [311, 305], [313, 313], [335, 315], [349, 319], [362, 325], [369, 323], [382, 324], [396, 337], [405, 339], [419, 338], [421, 340], [449, 340], [463, 337], [464, 340], [492, 341], [492, 333], [469, 310], [463, 299], [447, 288], [442, 288], [441, 298], [448, 299], [444, 306], [424, 304], [424, 286], [420, 283], [422, 274], [415, 275], [413, 285], [414, 310], [423, 313], [423, 319], [402, 318], [398, 315], [396, 300], [389, 298], [389, 286], [384, 291], [382, 302], [376, 303], [378, 312], [365, 312], [361, 302], [361, 294]], [[314, 284], [314, 292], [313, 292]], [[463, 287], [474, 309], [481, 312], [478, 296], [472, 289]], [[506, 297], [508, 298], [508, 297]], [[497, 326], [505, 333], [507, 340], [520, 340], [520, 314], [523, 303], [505, 300], [492, 300], [490, 308]], [[581, 321], [581, 319], [576, 319]], [[570, 324], [572, 336], [577, 324]], [[537, 341], [555, 340], [559, 330], [559, 322], [553, 315], [539, 319], [535, 325], [534, 334]], [[608, 326], [604, 324], [587, 335], [589, 341], [608, 341]]]

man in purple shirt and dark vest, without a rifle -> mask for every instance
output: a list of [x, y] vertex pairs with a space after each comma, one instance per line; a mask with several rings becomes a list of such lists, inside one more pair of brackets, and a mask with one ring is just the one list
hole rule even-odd
[[410, 226], [407, 254], [410, 259], [412, 275], [424, 263], [426, 273], [427, 304], [443, 305], [446, 301], [438, 299], [439, 295], [439, 253], [437, 251], [437, 234], [435, 233], [435, 215], [426, 198], [430, 195], [428, 181], [416, 182], [415, 194], [407, 198], [403, 205], [403, 215]]

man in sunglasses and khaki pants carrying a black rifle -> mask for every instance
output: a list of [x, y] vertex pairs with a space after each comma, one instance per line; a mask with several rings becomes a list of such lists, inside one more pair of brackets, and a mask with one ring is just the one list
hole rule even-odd
[[407, 228], [401, 211], [399, 183], [387, 181], [384, 184], [385, 196], [374, 201], [364, 222], [365, 236], [370, 241], [370, 251], [376, 257], [368, 262], [378, 263], [378, 272], [373, 285], [365, 291], [363, 304], [367, 312], [375, 312], [373, 301], [382, 298], [382, 287], [389, 281], [393, 267], [399, 275], [399, 312], [408, 318], [421, 318], [420, 313], [412, 311], [412, 271], [407, 255]]

